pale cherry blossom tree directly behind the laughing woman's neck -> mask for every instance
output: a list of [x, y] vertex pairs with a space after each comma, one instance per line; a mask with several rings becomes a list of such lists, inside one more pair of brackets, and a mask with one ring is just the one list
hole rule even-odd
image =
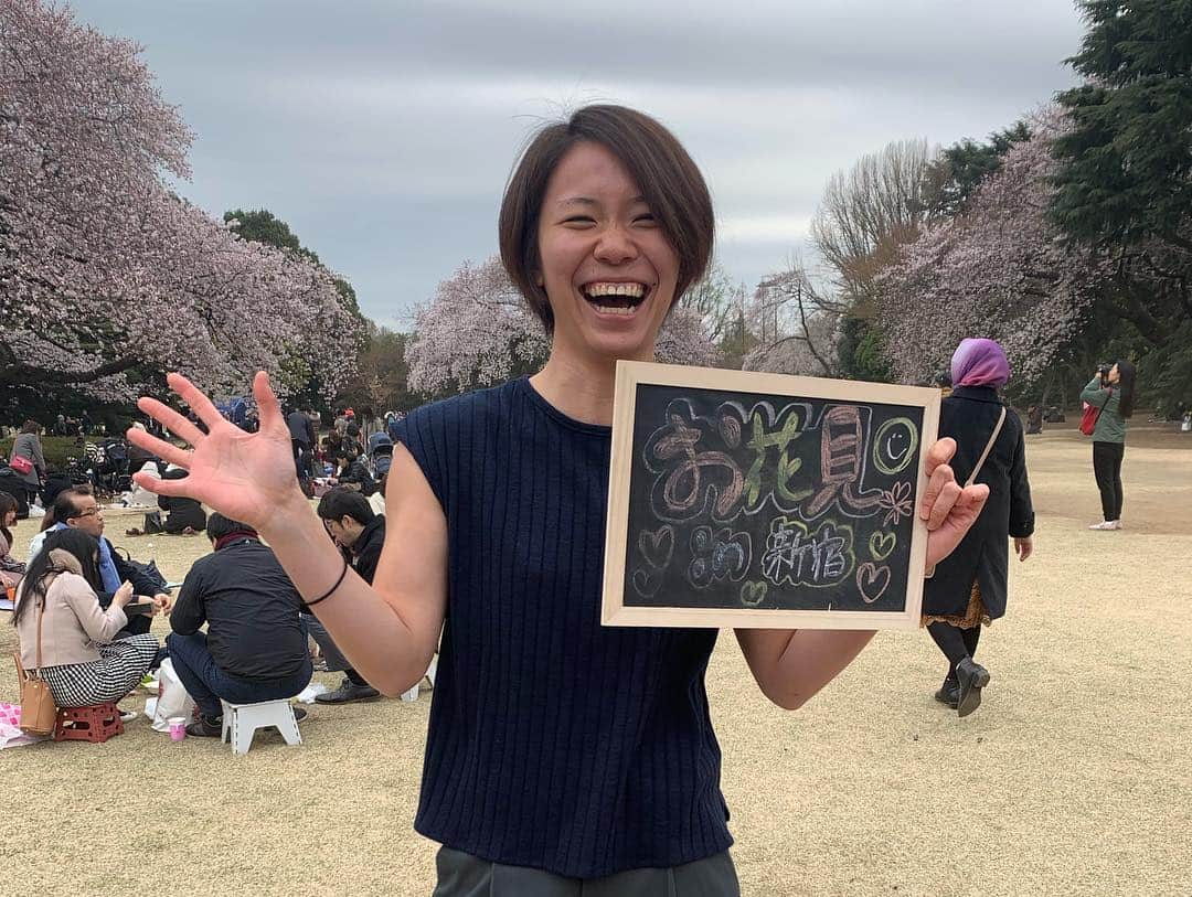
[[[546, 330], [498, 258], [479, 266], [464, 262], [412, 317], [406, 361], [410, 388], [420, 392], [501, 382], [539, 367], [550, 354]], [[671, 311], [658, 336], [658, 360], [715, 363], [716, 350], [699, 311], [683, 305]]]

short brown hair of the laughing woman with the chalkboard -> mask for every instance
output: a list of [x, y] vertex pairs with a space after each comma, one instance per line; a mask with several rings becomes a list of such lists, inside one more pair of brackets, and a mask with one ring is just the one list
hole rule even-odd
[[[542, 127], [526, 147], [501, 203], [501, 261], [547, 332], [554, 314], [538, 284], [538, 224], [546, 185], [559, 161], [582, 141], [616, 156], [637, 181], [646, 205], [678, 256], [675, 303], [703, 276], [712, 257], [715, 218], [712, 197], [695, 162], [669, 130], [625, 106], [584, 106], [566, 122]], [[673, 307], [673, 303], [671, 305]]]

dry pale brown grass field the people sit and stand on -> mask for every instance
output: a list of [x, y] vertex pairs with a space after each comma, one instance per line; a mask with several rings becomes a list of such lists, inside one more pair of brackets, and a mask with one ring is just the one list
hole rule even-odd
[[[966, 720], [931, 698], [944, 667], [924, 633], [879, 635], [797, 712], [722, 637], [708, 692], [743, 893], [1192, 893], [1190, 449], [1136, 426], [1126, 529], [1089, 532], [1087, 440], [1072, 424], [1029, 437], [1036, 554], [1014, 562], [979, 652], [993, 681]], [[138, 518], [107, 517], [170, 579], [209, 548], [126, 538]], [[15, 648], [7, 615], [0, 648]], [[259, 734], [241, 758], [144, 717], [105, 745], [0, 752], [0, 892], [428, 895], [436, 846], [412, 830], [428, 709], [316, 705], [302, 747]]]

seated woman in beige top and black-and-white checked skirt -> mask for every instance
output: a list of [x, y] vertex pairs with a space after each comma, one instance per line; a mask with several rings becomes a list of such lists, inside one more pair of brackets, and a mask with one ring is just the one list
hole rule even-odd
[[124, 608], [132, 585], [122, 585], [107, 610], [101, 609], [98, 555], [99, 542], [82, 530], [51, 532], [17, 591], [13, 624], [21, 666], [38, 669], [58, 706], [119, 700], [137, 687], [157, 655], [151, 635], [113, 641], [128, 625]]

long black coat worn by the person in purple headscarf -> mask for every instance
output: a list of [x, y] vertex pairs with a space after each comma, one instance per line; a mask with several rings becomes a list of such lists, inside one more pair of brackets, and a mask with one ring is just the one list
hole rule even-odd
[[[956, 440], [951, 466], [957, 482], [963, 484], [973, 473], [1000, 411], [997, 390], [987, 386], [958, 386], [944, 399], [939, 435]], [[1023, 425], [1010, 409], [976, 481], [989, 486], [989, 500], [973, 529], [927, 580], [924, 613], [963, 616], [974, 581], [981, 586], [981, 600], [992, 619], [1006, 612], [1008, 540], [1011, 536], [1025, 538], [1035, 532]]]

